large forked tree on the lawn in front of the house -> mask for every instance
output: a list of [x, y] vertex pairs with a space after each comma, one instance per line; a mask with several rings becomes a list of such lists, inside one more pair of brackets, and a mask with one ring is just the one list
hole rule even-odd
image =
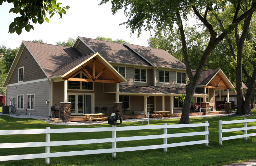
[[[102, 0], [100, 4], [105, 4], [109, 0]], [[190, 104], [196, 86], [199, 82], [204, 67], [206, 66], [207, 59], [212, 50], [222, 41], [240, 21], [244, 20], [249, 14], [255, 11], [255, 3], [240, 2], [240, 1], [219, 1], [219, 0], [205, 0], [205, 1], [178, 1], [178, 0], [151, 0], [151, 1], [133, 1], [133, 0], [112, 0], [111, 10], [115, 14], [118, 10], [124, 9], [124, 14], [128, 20], [121, 25], [127, 25], [131, 28], [131, 33], [138, 31], [140, 36], [142, 28], [144, 30], [152, 30], [155, 26], [156, 29], [168, 30], [172, 29], [174, 25], [178, 26], [180, 32], [180, 39], [182, 43], [182, 53], [184, 63], [186, 65], [186, 72], [188, 74], [189, 83], [186, 86], [186, 97], [182, 109], [182, 114], [179, 124], [188, 124]], [[244, 14], [241, 14], [241, 5], [243, 3], [252, 3]], [[214, 19], [214, 13], [217, 15], [221, 11], [225, 11], [227, 7], [232, 7], [232, 12], [226, 19], [231, 19], [232, 22], [225, 27], [224, 32], [216, 32], [210, 24], [209, 19]], [[184, 33], [183, 20], [188, 20], [188, 15], [196, 16], [201, 21], [201, 25], [209, 33], [208, 43], [206, 48], [202, 51], [200, 63], [196, 69], [196, 74], [193, 76], [190, 63], [188, 60], [188, 47], [187, 40]], [[196, 38], [195, 40], [198, 40]]]

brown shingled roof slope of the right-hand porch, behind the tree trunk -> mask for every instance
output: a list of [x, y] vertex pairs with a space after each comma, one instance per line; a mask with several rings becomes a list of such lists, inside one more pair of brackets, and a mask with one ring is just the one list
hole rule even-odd
[[[197, 84], [198, 85], [206, 85], [213, 76], [219, 71], [220, 69], [209, 69], [209, 70], [203, 70], [203, 73], [201, 75], [201, 78]], [[196, 71], [192, 72], [193, 76], [196, 75]]]

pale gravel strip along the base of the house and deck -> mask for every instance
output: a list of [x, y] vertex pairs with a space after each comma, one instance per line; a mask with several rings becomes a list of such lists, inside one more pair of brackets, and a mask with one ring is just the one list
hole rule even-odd
[[[17, 118], [32, 118], [32, 119], [40, 119], [40, 120], [43, 120], [49, 124], [56, 124], [56, 125], [90, 125], [90, 124], [107, 124], [108, 121], [92, 121], [91, 122], [67, 122], [67, 123], [52, 123], [52, 122], [49, 122], [48, 121], [48, 118], [47, 116], [36, 116], [36, 115], [23, 115], [23, 114], [14, 114], [14, 115], [9, 115], [9, 114], [2, 114], [2, 115], [7, 115], [7, 116], [10, 116], [10, 117], [17, 117]], [[255, 117], [256, 115], [252, 115], [252, 114], [248, 114], [248, 115], [239, 115], [239, 114], [236, 114], [235, 111], [232, 111], [231, 113], [229, 114], [216, 114], [216, 115], [207, 115], [207, 117], [224, 117], [224, 116], [232, 116], [232, 117], [237, 117], [237, 116], [240, 116], [240, 117]], [[200, 116], [190, 116], [190, 118], [194, 118], [194, 117], [200, 117]], [[204, 118], [205, 116], [202, 116], [202, 118]], [[149, 118], [149, 120], [159, 120], [161, 118]], [[163, 117], [162, 119], [180, 119], [180, 117]], [[144, 119], [144, 123], [146, 124], [147, 123], [147, 120], [148, 119]], [[136, 119], [124, 119], [122, 122], [123, 123], [127, 123], [127, 122], [140, 122], [142, 121], [142, 118], [136, 118]]]

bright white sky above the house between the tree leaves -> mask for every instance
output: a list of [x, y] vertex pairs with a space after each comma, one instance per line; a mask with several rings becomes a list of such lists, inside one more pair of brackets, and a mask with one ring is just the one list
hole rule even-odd
[[137, 38], [137, 33], [131, 35], [130, 29], [126, 29], [125, 25], [119, 26], [120, 23], [127, 21], [124, 11], [120, 10], [112, 15], [110, 3], [99, 6], [100, 1], [97, 0], [57, 0], [57, 2], [62, 3], [61, 7], [70, 6], [68, 13], [64, 14], [62, 19], [54, 15], [49, 23], [44, 22], [41, 25], [30, 21], [34, 30], [31, 29], [28, 33], [24, 28], [20, 35], [8, 33], [10, 23], [20, 14], [9, 13], [13, 4], [3, 2], [0, 6], [0, 45], [14, 49], [19, 47], [23, 40], [43, 40], [47, 44], [55, 44], [58, 41], [66, 42], [69, 37], [82, 36], [95, 39], [98, 36], [103, 36], [111, 37], [113, 40], [123, 39], [131, 44], [148, 46], [147, 40], [150, 38], [150, 32], [142, 31], [139, 38]]

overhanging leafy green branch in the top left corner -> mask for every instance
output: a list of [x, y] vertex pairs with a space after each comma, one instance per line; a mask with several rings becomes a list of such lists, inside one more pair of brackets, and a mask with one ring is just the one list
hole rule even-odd
[[[6, 0], [0, 0], [0, 5], [6, 2]], [[16, 17], [9, 26], [9, 32], [12, 34], [16, 32], [18, 35], [21, 34], [22, 29], [25, 27], [26, 31], [34, 30], [34, 26], [30, 24], [30, 20], [34, 24], [37, 22], [42, 24], [48, 22], [49, 19], [47, 14], [51, 18], [55, 13], [62, 18], [63, 14], [69, 9], [69, 6], [60, 7], [61, 3], [57, 3], [56, 0], [34, 0], [34, 1], [18, 1], [18, 0], [7, 0], [8, 3], [13, 3], [14, 8], [11, 8], [9, 12], [20, 13], [20, 17]]]

